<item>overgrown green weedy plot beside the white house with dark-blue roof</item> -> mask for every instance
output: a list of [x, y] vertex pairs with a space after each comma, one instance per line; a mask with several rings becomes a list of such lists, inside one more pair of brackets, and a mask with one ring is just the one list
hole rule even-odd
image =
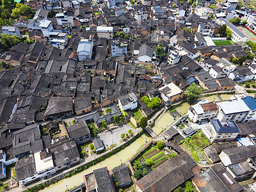
[[[191, 152], [193, 159], [199, 163], [202, 160], [202, 152], [204, 147], [210, 144], [205, 134], [202, 131], [198, 131], [192, 136], [185, 138], [183, 145]], [[199, 154], [199, 156], [198, 156]]]

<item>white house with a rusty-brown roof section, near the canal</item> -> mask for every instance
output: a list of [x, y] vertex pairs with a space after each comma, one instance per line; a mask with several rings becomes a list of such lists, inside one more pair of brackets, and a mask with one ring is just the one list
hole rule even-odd
[[188, 116], [193, 122], [210, 120], [218, 114], [218, 106], [214, 102], [205, 99], [188, 109]]

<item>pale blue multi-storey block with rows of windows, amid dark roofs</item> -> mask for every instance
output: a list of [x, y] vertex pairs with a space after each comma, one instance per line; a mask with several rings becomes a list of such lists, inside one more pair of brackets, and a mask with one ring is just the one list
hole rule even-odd
[[113, 57], [124, 56], [127, 54], [128, 42], [123, 38], [116, 38], [111, 44], [111, 55]]

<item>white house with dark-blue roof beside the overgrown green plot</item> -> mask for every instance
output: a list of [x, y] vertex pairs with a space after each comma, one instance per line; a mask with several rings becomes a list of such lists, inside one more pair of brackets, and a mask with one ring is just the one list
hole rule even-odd
[[204, 124], [202, 131], [211, 142], [234, 141], [241, 132], [233, 120], [221, 124], [218, 119]]

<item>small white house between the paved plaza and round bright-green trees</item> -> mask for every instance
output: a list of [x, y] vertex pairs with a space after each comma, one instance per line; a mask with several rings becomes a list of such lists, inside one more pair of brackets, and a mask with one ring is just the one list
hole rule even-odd
[[138, 99], [134, 93], [118, 97], [118, 105], [122, 111], [132, 110], [138, 107]]

